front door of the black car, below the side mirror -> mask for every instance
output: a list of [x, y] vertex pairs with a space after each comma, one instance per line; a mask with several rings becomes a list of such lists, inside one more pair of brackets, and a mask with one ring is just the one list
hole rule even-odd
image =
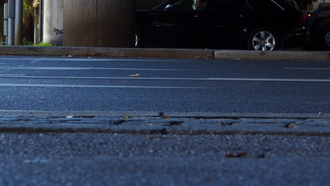
[[194, 0], [173, 0], [153, 15], [153, 45], [169, 47], [202, 46], [204, 41], [204, 8], [195, 9]]

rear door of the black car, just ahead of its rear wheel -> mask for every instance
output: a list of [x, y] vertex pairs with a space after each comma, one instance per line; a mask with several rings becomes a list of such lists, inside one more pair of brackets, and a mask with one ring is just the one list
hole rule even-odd
[[207, 41], [211, 47], [239, 48], [245, 42], [247, 13], [245, 0], [209, 0], [207, 4]]

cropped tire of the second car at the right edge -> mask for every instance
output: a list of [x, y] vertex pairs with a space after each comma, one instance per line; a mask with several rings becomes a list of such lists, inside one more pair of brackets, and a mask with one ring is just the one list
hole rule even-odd
[[315, 27], [312, 46], [314, 50], [330, 50], [330, 18]]

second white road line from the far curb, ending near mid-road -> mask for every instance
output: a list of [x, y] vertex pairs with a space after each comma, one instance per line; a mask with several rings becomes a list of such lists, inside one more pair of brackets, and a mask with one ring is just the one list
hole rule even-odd
[[[6, 69], [0, 67], [0, 69]], [[10, 70], [159, 70], [159, 71], [200, 71], [161, 68], [83, 68], [83, 67], [12, 67]]]

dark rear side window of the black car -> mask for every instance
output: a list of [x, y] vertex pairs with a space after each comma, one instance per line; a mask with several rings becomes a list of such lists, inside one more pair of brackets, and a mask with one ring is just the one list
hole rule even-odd
[[245, 0], [209, 0], [209, 9], [236, 9], [243, 10], [246, 6]]

